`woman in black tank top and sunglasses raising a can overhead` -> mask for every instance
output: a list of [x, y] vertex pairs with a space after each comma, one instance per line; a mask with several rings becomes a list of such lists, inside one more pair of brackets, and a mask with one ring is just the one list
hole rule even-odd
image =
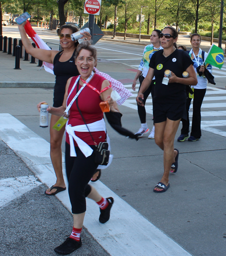
[[[70, 77], [78, 76], [79, 72], [75, 66], [74, 53], [78, 42], [71, 40], [71, 34], [77, 32], [79, 29], [74, 24], [66, 24], [60, 30], [60, 44], [63, 51], [44, 50], [40, 48], [33, 48], [30, 40], [24, 29], [26, 22], [18, 25], [21, 34], [21, 39], [27, 53], [33, 57], [38, 58], [47, 63], [54, 64], [54, 74], [56, 75], [56, 83], [54, 87], [53, 106], [62, 106], [66, 82]], [[88, 32], [81, 33], [85, 40], [90, 40], [91, 35]], [[51, 115], [50, 121], [50, 156], [52, 165], [56, 174], [56, 183], [45, 191], [46, 195], [55, 195], [66, 189], [66, 185], [62, 173], [62, 152], [61, 143], [65, 131], [63, 127], [60, 131], [52, 129], [55, 123], [59, 120], [59, 116]]]

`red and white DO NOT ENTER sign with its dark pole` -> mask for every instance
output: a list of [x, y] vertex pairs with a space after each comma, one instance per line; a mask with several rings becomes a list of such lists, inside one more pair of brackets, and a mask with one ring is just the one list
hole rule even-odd
[[99, 15], [101, 0], [85, 0], [84, 13], [89, 14], [89, 29], [93, 40], [95, 15]]

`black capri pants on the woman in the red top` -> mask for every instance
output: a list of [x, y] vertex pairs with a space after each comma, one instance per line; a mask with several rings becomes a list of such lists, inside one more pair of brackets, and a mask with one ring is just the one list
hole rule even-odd
[[[94, 145], [90, 145], [90, 147], [95, 151]], [[70, 156], [70, 145], [66, 143], [65, 163], [71, 212], [79, 214], [86, 211], [85, 198], [91, 191], [91, 186], [88, 183], [96, 172], [98, 164], [94, 163], [94, 152], [88, 157], [83, 155], [79, 147], [75, 147], [75, 152], [76, 157]]]

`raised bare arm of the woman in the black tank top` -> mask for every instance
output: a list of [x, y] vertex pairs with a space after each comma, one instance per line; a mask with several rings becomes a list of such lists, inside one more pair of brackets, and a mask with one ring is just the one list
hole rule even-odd
[[28, 36], [24, 29], [25, 24], [26, 24], [26, 22], [18, 25], [18, 27], [19, 27], [19, 32], [21, 35], [22, 43], [24, 45], [26, 52], [31, 54], [34, 58], [38, 58], [38, 59], [48, 62], [48, 63], [53, 63], [53, 59], [56, 56], [56, 53], [58, 53], [59, 51], [43, 50], [40, 48], [34, 48], [32, 43], [28, 39]]

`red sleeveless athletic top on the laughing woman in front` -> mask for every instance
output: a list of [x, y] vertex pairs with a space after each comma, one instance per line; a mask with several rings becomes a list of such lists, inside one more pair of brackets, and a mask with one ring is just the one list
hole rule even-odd
[[[71, 92], [71, 88], [73, 87], [77, 77], [72, 77], [71, 83], [68, 88], [68, 95]], [[101, 77], [97, 74], [94, 74], [93, 78], [89, 81], [89, 84], [95, 87], [99, 92], [101, 91], [102, 83], [106, 80], [104, 77]], [[70, 97], [67, 100], [67, 105], [72, 101], [77, 93], [77, 86], [79, 82], [75, 86], [73, 92], [71, 92]], [[79, 85], [79, 90], [81, 86]], [[85, 119], [86, 124], [90, 124], [96, 121], [103, 119], [103, 112], [100, 109], [99, 103], [102, 101], [99, 94], [95, 92], [93, 89], [89, 88], [87, 85], [80, 92], [80, 95], [77, 97], [78, 105], [80, 111]], [[68, 120], [68, 124], [71, 126], [79, 126], [84, 125], [84, 121], [78, 111], [76, 100], [72, 104], [70, 108], [70, 116]], [[95, 142], [97, 145], [99, 142], [103, 142], [106, 138], [106, 134], [104, 131], [94, 131], [91, 132]], [[88, 145], [95, 145], [94, 141], [89, 132], [77, 132], [75, 131], [75, 135], [78, 136], [81, 140], [85, 141]], [[66, 133], [66, 142], [70, 144], [69, 136]], [[74, 140], [74, 145], [77, 146], [77, 143]]]

